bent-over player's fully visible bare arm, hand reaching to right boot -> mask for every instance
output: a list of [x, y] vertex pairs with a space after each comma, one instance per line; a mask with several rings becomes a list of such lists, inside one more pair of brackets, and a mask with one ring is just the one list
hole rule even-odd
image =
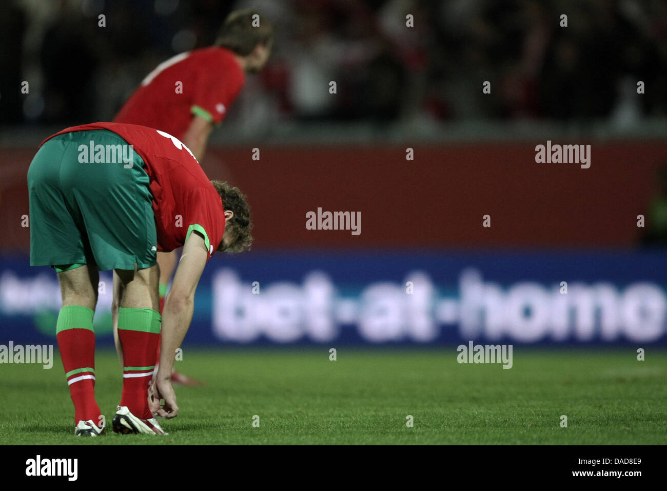
[[[174, 353], [183, 342], [192, 321], [195, 290], [208, 254], [203, 236], [197, 230], [191, 232], [183, 246], [183, 255], [162, 309], [159, 368], [155, 383], [149, 388], [148, 400], [151, 412], [165, 418], [174, 418], [178, 415], [176, 396], [171, 387]], [[163, 408], [160, 408], [160, 398], [165, 399]]]

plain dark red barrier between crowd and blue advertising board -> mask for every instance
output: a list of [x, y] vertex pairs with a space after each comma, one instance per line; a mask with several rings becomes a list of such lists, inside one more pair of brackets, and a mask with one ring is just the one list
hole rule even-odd
[[[211, 148], [203, 166], [251, 204], [255, 247], [630, 246], [667, 164], [664, 142], [592, 142], [590, 168], [538, 164], [546, 142]], [[582, 143], [582, 142], [568, 142]], [[25, 251], [25, 173], [36, 149], [0, 156], [3, 251]], [[317, 208], [361, 212], [361, 233], [308, 230]], [[491, 227], [482, 226], [489, 214]]]

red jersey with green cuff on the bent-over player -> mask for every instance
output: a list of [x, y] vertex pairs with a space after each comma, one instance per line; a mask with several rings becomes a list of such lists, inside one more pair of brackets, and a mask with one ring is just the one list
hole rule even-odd
[[181, 247], [192, 230], [197, 230], [204, 236], [210, 259], [222, 242], [225, 210], [199, 162], [180, 140], [135, 124], [91, 123], [65, 128], [44, 142], [62, 133], [100, 129], [119, 135], [143, 159], [153, 193], [158, 251]]

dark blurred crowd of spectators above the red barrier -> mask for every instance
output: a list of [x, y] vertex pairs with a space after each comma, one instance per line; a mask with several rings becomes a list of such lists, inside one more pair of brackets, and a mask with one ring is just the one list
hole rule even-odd
[[275, 27], [269, 64], [227, 117], [248, 131], [667, 115], [664, 0], [5, 0], [0, 122], [110, 120], [158, 63], [213, 44], [225, 15], [245, 7]]

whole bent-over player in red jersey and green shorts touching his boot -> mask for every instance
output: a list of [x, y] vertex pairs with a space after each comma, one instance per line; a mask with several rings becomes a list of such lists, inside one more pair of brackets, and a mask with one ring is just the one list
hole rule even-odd
[[[54, 267], [63, 296], [56, 333], [75, 435], [104, 432], [94, 393], [93, 313], [99, 271], [111, 269], [123, 283], [123, 392], [113, 431], [163, 434], [154, 415], [178, 414], [171, 369], [203, 268], [215, 251], [240, 252], [251, 244], [245, 197], [209, 181], [173, 136], [133, 124], [86, 124], [50, 136], [27, 180], [30, 263]], [[183, 255], [161, 317], [155, 257], [180, 246]], [[150, 384], [160, 335], [159, 368]]]

